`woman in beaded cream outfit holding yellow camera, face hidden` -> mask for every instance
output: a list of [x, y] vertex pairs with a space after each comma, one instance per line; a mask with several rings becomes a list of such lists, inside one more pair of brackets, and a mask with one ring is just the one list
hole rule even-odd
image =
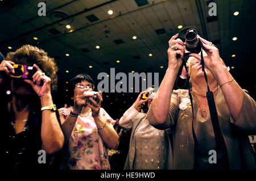
[[[147, 99], [142, 99], [142, 95], [150, 91], [154, 89], [148, 88], [141, 92], [133, 106], [119, 120], [120, 127], [131, 129], [129, 153], [124, 167], [126, 170], [172, 169], [172, 149], [168, 137], [170, 131], [155, 129], [146, 117], [154, 93]], [[141, 112], [142, 105], [146, 106], [144, 113]]]

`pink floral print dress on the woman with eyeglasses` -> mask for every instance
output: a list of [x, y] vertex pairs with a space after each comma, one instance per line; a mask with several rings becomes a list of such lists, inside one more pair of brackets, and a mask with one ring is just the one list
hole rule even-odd
[[[100, 115], [112, 125], [115, 121], [101, 108]], [[68, 167], [71, 170], [110, 170], [109, 155], [89, 111], [78, 116], [69, 139]]]

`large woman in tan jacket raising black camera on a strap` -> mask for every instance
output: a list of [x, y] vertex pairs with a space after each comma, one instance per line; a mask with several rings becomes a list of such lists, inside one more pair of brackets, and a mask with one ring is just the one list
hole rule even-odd
[[176, 39], [177, 36], [169, 41], [168, 69], [158, 97], [152, 101], [147, 113], [148, 121], [154, 127], [171, 128], [174, 132], [174, 169], [255, 169], [253, 150], [247, 137], [256, 131], [255, 101], [223, 66], [218, 49], [197, 35], [206, 52], [205, 73], [214, 95], [220, 127], [220, 149], [216, 150], [206, 96], [207, 83], [199, 54], [189, 54], [191, 57], [187, 61], [192, 104], [188, 90], [173, 90], [185, 53], [185, 43]]

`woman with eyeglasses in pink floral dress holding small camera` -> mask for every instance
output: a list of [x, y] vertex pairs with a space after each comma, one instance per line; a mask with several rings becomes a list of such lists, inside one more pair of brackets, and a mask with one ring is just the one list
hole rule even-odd
[[93, 89], [93, 79], [87, 74], [76, 75], [71, 80], [69, 90], [74, 106], [61, 126], [68, 144], [61, 169], [110, 169], [107, 148], [117, 148], [118, 134], [113, 128], [115, 121], [101, 108], [102, 92]]

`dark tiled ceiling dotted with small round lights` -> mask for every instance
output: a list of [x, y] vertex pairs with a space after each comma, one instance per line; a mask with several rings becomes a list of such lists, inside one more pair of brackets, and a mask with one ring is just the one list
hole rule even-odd
[[[96, 86], [101, 81], [97, 75], [110, 74], [110, 68], [115, 74], [159, 73], [160, 84], [167, 69], [168, 40], [183, 30], [179, 25], [196, 27], [201, 37], [212, 41], [225, 64], [233, 67], [230, 73], [255, 99], [255, 0], [47, 0], [46, 16], [38, 15], [39, 2], [0, 1], [0, 51], [6, 55], [31, 44], [54, 57], [59, 66], [59, 107], [67, 99], [66, 82], [79, 73], [91, 75]], [[216, 3], [217, 16], [209, 16], [210, 2]], [[102, 107], [117, 119], [137, 96], [104, 93]]]

